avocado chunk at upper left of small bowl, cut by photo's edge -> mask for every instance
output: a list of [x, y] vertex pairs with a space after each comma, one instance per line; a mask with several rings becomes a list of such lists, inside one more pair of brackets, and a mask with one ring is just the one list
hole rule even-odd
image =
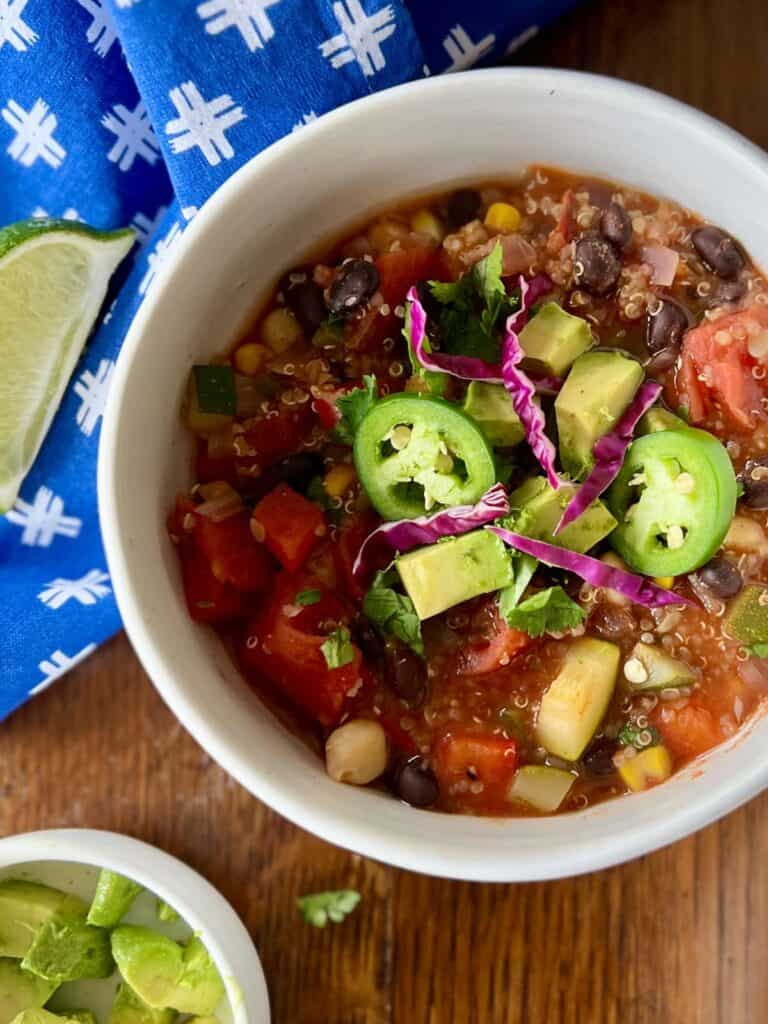
[[87, 907], [77, 896], [58, 889], [6, 879], [0, 882], [0, 956], [27, 955], [35, 935], [56, 913], [82, 914]]

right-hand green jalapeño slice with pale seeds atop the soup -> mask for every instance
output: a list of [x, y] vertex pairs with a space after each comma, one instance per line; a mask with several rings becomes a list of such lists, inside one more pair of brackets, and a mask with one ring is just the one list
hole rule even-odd
[[659, 430], [632, 443], [608, 492], [609, 543], [652, 577], [690, 572], [715, 554], [736, 509], [728, 453], [705, 430]]

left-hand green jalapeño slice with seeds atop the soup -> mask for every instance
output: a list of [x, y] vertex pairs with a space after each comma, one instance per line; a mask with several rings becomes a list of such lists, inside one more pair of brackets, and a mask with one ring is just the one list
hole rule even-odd
[[354, 464], [384, 519], [472, 505], [496, 480], [494, 454], [472, 420], [418, 394], [376, 402], [355, 434]]

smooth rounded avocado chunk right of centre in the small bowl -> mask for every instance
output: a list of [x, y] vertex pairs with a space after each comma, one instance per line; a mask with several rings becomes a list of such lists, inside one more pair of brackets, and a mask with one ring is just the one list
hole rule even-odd
[[121, 925], [112, 933], [112, 953], [125, 981], [156, 1010], [171, 1006], [183, 969], [183, 950], [151, 928]]

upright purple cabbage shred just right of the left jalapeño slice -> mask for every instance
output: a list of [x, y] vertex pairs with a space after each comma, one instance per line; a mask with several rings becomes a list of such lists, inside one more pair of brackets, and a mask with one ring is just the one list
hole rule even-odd
[[512, 396], [515, 413], [525, 431], [525, 440], [547, 474], [550, 486], [559, 487], [562, 480], [555, 470], [555, 445], [545, 433], [546, 421], [544, 413], [534, 401], [536, 385], [519, 369], [525, 353], [518, 338], [527, 319], [530, 305], [530, 287], [524, 278], [520, 278], [520, 308], [507, 317], [502, 344], [502, 378], [504, 386]]

